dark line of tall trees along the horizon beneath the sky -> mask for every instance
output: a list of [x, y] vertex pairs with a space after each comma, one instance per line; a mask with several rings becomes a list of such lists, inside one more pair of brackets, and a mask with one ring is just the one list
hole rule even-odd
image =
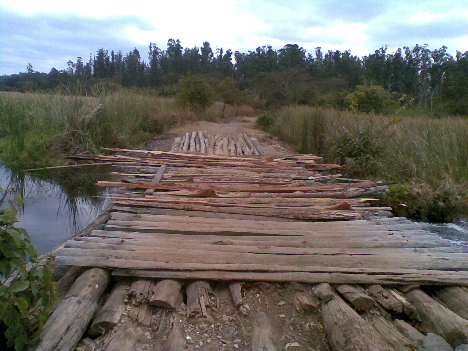
[[172, 95], [182, 77], [202, 75], [219, 80], [231, 77], [267, 107], [349, 108], [346, 96], [356, 87], [380, 86], [388, 100], [404, 99], [428, 110], [468, 114], [468, 51], [457, 51], [453, 57], [446, 46], [431, 51], [427, 44], [417, 44], [395, 52], [382, 47], [358, 57], [351, 51], [322, 52], [320, 47], [311, 54], [297, 44], [233, 53], [222, 48], [213, 51], [208, 42], [183, 48], [179, 40], [169, 39], [165, 50], [150, 43], [146, 60], [136, 48], [125, 55], [101, 48], [87, 62], [78, 57], [66, 65], [47, 74], [35, 72], [29, 64], [25, 73], [1, 76], [0, 89], [48, 90], [79, 79], [91, 87], [88, 93], [97, 84], [97, 91], [123, 86]]

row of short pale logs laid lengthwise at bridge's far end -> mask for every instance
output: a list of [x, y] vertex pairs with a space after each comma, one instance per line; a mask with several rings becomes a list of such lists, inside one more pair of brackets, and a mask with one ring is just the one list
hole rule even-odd
[[190, 151], [216, 155], [263, 155], [264, 147], [256, 138], [239, 133], [237, 138], [199, 132], [187, 132], [183, 137], [174, 139], [171, 151]]

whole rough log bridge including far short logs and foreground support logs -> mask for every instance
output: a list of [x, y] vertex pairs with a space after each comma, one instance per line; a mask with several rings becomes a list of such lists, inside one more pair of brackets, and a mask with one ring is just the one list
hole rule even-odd
[[[108, 150], [118, 153], [79, 156], [114, 162], [121, 180], [99, 182], [115, 189], [102, 230], [56, 252], [55, 262], [72, 268], [59, 281], [36, 351], [141, 350], [136, 340], [146, 335], [145, 350], [162, 350], [161, 343], [168, 351], [318, 345], [288, 334], [300, 325], [296, 317], [284, 325], [280, 317], [290, 312], [248, 311], [236, 282], [246, 280], [319, 283], [270, 306], [293, 303], [306, 318], [319, 315], [313, 325], [323, 325], [335, 351], [417, 351], [419, 331], [453, 347], [468, 342], [468, 289], [460, 286], [468, 285], [468, 254], [359, 197], [385, 184], [330, 175], [340, 166], [314, 155], [265, 155], [246, 135], [192, 132], [176, 138], [171, 152]], [[210, 280], [227, 281], [231, 316], [220, 312]], [[241, 325], [242, 340], [224, 340], [221, 328], [235, 330], [239, 314], [250, 331]], [[280, 324], [286, 334], [275, 329]]]

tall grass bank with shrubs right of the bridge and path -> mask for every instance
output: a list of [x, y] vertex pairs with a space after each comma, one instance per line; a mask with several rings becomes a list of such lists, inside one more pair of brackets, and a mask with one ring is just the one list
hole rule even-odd
[[451, 221], [468, 212], [468, 118], [292, 106], [263, 115], [258, 125], [300, 152], [365, 170], [348, 176], [398, 182], [382, 197], [398, 214]]

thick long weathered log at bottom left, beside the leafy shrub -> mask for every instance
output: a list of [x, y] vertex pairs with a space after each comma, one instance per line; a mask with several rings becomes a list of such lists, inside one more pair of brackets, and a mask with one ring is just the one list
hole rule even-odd
[[81, 274], [45, 323], [36, 351], [73, 350], [109, 282], [109, 271], [101, 268], [92, 268]]

